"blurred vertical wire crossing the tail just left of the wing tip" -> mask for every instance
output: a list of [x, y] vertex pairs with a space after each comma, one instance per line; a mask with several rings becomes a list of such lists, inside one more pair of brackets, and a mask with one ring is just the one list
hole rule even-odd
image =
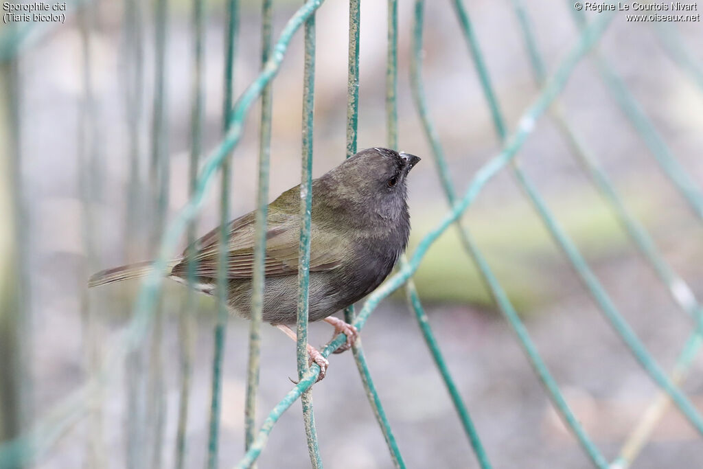
[[[152, 120], [152, 147], [150, 181], [154, 192], [155, 217], [152, 246], [158, 248], [165, 227], [169, 198], [169, 155], [166, 96], [166, 44], [168, 28], [168, 0], [156, 0], [154, 5], [154, 103]], [[148, 425], [150, 435], [150, 467], [159, 469], [163, 454], [163, 433], [165, 420], [165, 390], [163, 364], [164, 305], [159, 299], [153, 326], [150, 350], [150, 375], [148, 397]]]

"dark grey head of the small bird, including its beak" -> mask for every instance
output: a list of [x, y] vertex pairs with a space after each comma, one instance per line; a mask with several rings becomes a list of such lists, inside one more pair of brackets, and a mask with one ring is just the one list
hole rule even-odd
[[408, 172], [420, 161], [415, 155], [388, 148], [367, 148], [325, 174], [330, 191], [367, 215], [365, 221], [398, 221], [407, 217]]

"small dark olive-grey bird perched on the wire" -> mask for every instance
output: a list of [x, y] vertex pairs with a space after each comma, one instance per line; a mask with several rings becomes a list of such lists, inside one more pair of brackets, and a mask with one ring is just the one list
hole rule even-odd
[[[347, 335], [349, 349], [358, 331], [332, 316], [361, 300], [392, 271], [410, 235], [406, 179], [420, 158], [388, 148], [367, 148], [312, 181], [310, 231], [309, 321], [323, 320], [335, 335]], [[293, 340], [288, 324], [297, 311], [298, 245], [300, 236], [300, 186], [290, 188], [269, 204], [266, 220], [266, 258], [263, 319]], [[254, 264], [254, 212], [228, 224], [227, 304], [248, 319], [251, 314]], [[217, 289], [220, 228], [186, 248], [169, 263], [165, 274], [187, 284], [188, 264], [193, 261], [193, 288], [207, 295]], [[152, 262], [108, 269], [91, 276], [89, 286], [105, 285], [146, 276]], [[311, 362], [324, 378], [329, 362], [307, 346]]]

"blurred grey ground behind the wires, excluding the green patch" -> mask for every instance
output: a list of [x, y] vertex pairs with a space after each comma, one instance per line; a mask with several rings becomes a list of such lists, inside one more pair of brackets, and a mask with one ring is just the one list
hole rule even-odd
[[[430, 153], [415, 117], [408, 89], [408, 46], [412, 7], [401, 3], [401, 71], [399, 96], [402, 148], [426, 155], [413, 172], [413, 212], [444, 207]], [[457, 186], [465, 187], [482, 162], [496, 153], [498, 145], [479, 90], [473, 66], [460, 40], [449, 2], [427, 7], [425, 33], [425, 80], [432, 114], [455, 168]], [[535, 96], [527, 57], [523, 53], [517, 23], [508, 2], [466, 2], [475, 19], [479, 39], [496, 84], [496, 91], [511, 128], [520, 112]], [[290, 14], [281, 7], [276, 30]], [[346, 93], [346, 4], [330, 1], [318, 17], [318, 79], [315, 174], [322, 174], [344, 152], [344, 102]], [[377, 146], [383, 130], [383, 76], [385, 72], [385, 4], [366, 2], [362, 14], [362, 76], [359, 144]], [[186, 200], [188, 167], [188, 109], [190, 103], [190, 42], [185, 6], [174, 8], [169, 46], [170, 150], [172, 153], [171, 213]], [[530, 2], [536, 34], [550, 70], [574, 41], [574, 27], [562, 2]], [[93, 41], [98, 101], [98, 151], [103, 162], [101, 198], [97, 207], [98, 264], [100, 268], [124, 262], [124, 204], [127, 183], [127, 127], [120, 86], [124, 60], [120, 55], [120, 4], [104, 2], [101, 33]], [[258, 17], [244, 10], [243, 37], [238, 68], [238, 89], [250, 82], [257, 70]], [[221, 12], [211, 13], [207, 44], [206, 148], [217, 142], [221, 101]], [[703, 60], [699, 24], [682, 24], [683, 37]], [[147, 78], [145, 113], [142, 118], [142, 150], [148, 158], [152, 31], [146, 32]], [[271, 194], [294, 184], [299, 174], [299, 89], [302, 41], [292, 46], [274, 86]], [[81, 259], [81, 210], [77, 200], [75, 155], [78, 99], [81, 93], [79, 34], [74, 25], [56, 28], [22, 59], [22, 144], [25, 186], [30, 188], [28, 220], [32, 229], [32, 307], [34, 338], [35, 413], [42, 415], [60, 397], [84, 380], [79, 297], [84, 285]], [[602, 44], [645, 111], [662, 130], [674, 152], [697, 181], [703, 180], [703, 144], [700, 109], [703, 94], [673, 65], [659, 46], [652, 28], [631, 25], [620, 16]], [[605, 162], [618, 183], [647, 181], [652, 191], [671, 201], [671, 210], [656, 218], [655, 232], [667, 259], [681, 272], [698, 295], [703, 295], [703, 263], [700, 262], [700, 225], [686, 210], [657, 171], [656, 165], [626, 120], [607, 97], [593, 65], [579, 65], [565, 91], [565, 103], [573, 122], [593, 151]], [[292, 90], [292, 91], [291, 91]], [[257, 112], [252, 113], [245, 138], [235, 154], [233, 213], [253, 207], [257, 148]], [[460, 124], [459, 124], [460, 123]], [[292, 150], [291, 150], [292, 148]], [[529, 174], [556, 200], [585, 179], [565, 155], [565, 145], [546, 121], [538, 124], [522, 155]], [[146, 167], [146, 165], [144, 166]], [[423, 168], [422, 170], [419, 170]], [[200, 232], [217, 220], [217, 190], [209, 191]], [[482, 208], [501, 210], [504, 203], [520, 197], [506, 175], [486, 187], [477, 202]], [[141, 249], [140, 257], [148, 257]], [[536, 269], [541, 269], [536, 264]], [[586, 430], [608, 458], [617, 455], [620, 442], [654, 394], [654, 386], [621, 345], [598, 309], [580, 287], [565, 263], [550, 266], [560, 299], [539, 311], [528, 311], [527, 327], [546, 359], [569, 403]], [[613, 300], [654, 356], [667, 370], [673, 366], [692, 322], [669, 300], [664, 287], [632, 250], [595, 265]], [[93, 312], [100, 318], [101, 342], [107, 344], [124, 324], [117, 314], [120, 290], [91, 294]], [[182, 289], [169, 286], [178, 311]], [[203, 300], [202, 309], [213, 304]], [[495, 311], [467, 305], [427, 305], [430, 321], [458, 387], [496, 468], [585, 468], [588, 460], [550, 409], [548, 399], [524, 359], [505, 321]], [[172, 465], [175, 418], [178, 406], [179, 368], [176, 321], [167, 316], [165, 329], [166, 439], [165, 466]], [[329, 326], [311, 326], [311, 342], [321, 344]], [[232, 319], [228, 326], [223, 390], [221, 467], [230, 467], [243, 454], [243, 399], [247, 354], [247, 323]], [[292, 342], [277, 330], [264, 326], [259, 421], [283, 397], [295, 375]], [[363, 345], [409, 467], [477, 467], [470, 446], [453, 410], [448, 394], [432, 364], [415, 319], [402, 302], [384, 302], [363, 330]], [[201, 467], [205, 460], [207, 406], [212, 360], [212, 314], [198, 320], [197, 357], [191, 420], [188, 427], [187, 467]], [[105, 346], [105, 349], [108, 347]], [[115, 375], [120, 370], [115, 370]], [[703, 409], [702, 359], [697, 359], [684, 386], [699, 409]], [[103, 444], [109, 467], [124, 466], [125, 386], [115, 378], [104, 400]], [[385, 444], [375, 424], [351, 354], [333, 356], [328, 378], [314, 388], [315, 411], [323, 461], [331, 468], [391, 467]], [[271, 434], [260, 458], [262, 468], [309, 466], [299, 404], [285, 413]], [[39, 464], [42, 468], [75, 468], [86, 454], [86, 425], [69, 432]], [[90, 463], [88, 463], [90, 464]], [[703, 465], [703, 442], [695, 430], [676, 413], [669, 413], [654, 433], [652, 443], [638, 459], [636, 468], [697, 468]]]

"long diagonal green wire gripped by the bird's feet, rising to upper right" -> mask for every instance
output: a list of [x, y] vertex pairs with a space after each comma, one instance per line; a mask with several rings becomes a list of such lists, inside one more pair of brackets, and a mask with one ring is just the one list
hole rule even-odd
[[[378, 304], [386, 297], [391, 295], [395, 290], [404, 285], [408, 279], [415, 274], [415, 271], [417, 271], [418, 266], [420, 266], [420, 262], [422, 262], [423, 257], [427, 254], [427, 250], [430, 249], [430, 246], [456, 222], [465, 210], [467, 210], [480, 191], [482, 191], [482, 188], [484, 188], [484, 186], [491, 179], [493, 179], [498, 172], [501, 172], [501, 170], [508, 165], [513, 158], [515, 158], [517, 150], [521, 148], [532, 129], [534, 129], [534, 122], [538, 119], [538, 117], [546, 112], [549, 105], [554, 101], [558, 94], [560, 94], [562, 89], [564, 89], [567, 79], [569, 75], [571, 75], [571, 72], [574, 70], [576, 64], [579, 63], [581, 58], [583, 58], [591, 47], [593, 47], [593, 44], [600, 39], [602, 33], [607, 28], [607, 25], [610, 24], [611, 20], [612, 15], [600, 15], [598, 20], [591, 23], [591, 25], [588, 25], [586, 30], [583, 30], [581, 36], [579, 37], [579, 41], [576, 42], [574, 47], [562, 60], [562, 63], [560, 63], [554, 75], [543, 87], [536, 101], [524, 112], [522, 119], [520, 120], [520, 125], [517, 127], [515, 133], [512, 134], [512, 136], [510, 136], [507, 140], [508, 143], [506, 143], [505, 148], [503, 148], [501, 153], [486, 162], [486, 164], [477, 171], [462, 198], [458, 199], [456, 203], [452, 205], [450, 212], [446, 214], [444, 219], [442, 219], [441, 222], [434, 227], [434, 229], [432, 229], [422, 240], [420, 240], [418, 247], [409, 259], [408, 264], [406, 264], [406, 266], [402, 266], [396, 274], [391, 276], [383, 285], [369, 295], [363, 305], [363, 308], [359, 312], [359, 315], [356, 316], [354, 321], [354, 326], [356, 326], [356, 328], [359, 330], [363, 329], [364, 324], [366, 324], [366, 321], [373, 313], [375, 308], [378, 307]], [[491, 275], [489, 277], [489, 281], [497, 285], [498, 291], [501, 293], [501, 295], [498, 296], [498, 298], [501, 299], [501, 303], [509, 305], [510, 302], [508, 301], [507, 295], [505, 295], [503, 290], [500, 288], [496, 278]], [[508, 311], [510, 311], [510, 313], [515, 316], [515, 319], [517, 319], [517, 314], [514, 310]], [[520, 326], [522, 326], [522, 324], [520, 324]], [[521, 337], [521, 343], [524, 342], [525, 344], [531, 345], [529, 335], [527, 335], [527, 330], [524, 330], [524, 326], [516, 328], [516, 332]], [[321, 352], [322, 355], [329, 356], [346, 341], [347, 338], [343, 333], [338, 334], [337, 337], [325, 346]], [[536, 350], [534, 350], [534, 347], [529, 349], [528, 354], [530, 356], [538, 356], [536, 354]], [[558, 387], [556, 387], [555, 383], [550, 380], [550, 375], [546, 371], [546, 367], [541, 364], [541, 366], [537, 366], [536, 368], [538, 369], [540, 378], [545, 380], [546, 385], [551, 388], [550, 392], [553, 392], [555, 395], [560, 397]], [[239, 461], [236, 468], [248, 468], [252, 465], [252, 463], [254, 463], [254, 461], [256, 461], [259, 454], [261, 454], [261, 451], [264, 449], [264, 446], [266, 446], [271, 430], [273, 430], [273, 427], [276, 425], [276, 422], [280, 416], [282, 416], [283, 413], [293, 404], [293, 402], [300, 397], [302, 392], [309, 389], [309, 387], [313, 385], [319, 373], [320, 367], [316, 364], [312, 364], [309, 373], [302, 380], [300, 380], [299, 383], [293, 387], [293, 389], [290, 390], [290, 392], [288, 392], [288, 394], [286, 394], [278, 404], [276, 404], [276, 406], [273, 407], [269, 413], [269, 416], [264, 420], [256, 439], [254, 439], [252, 447], [249, 451], [247, 451], [244, 458]], [[568, 409], [568, 406], [563, 399], [561, 399], [558, 405], [562, 409]], [[579, 425], [575, 418], [573, 419], [573, 423], [576, 426]], [[590, 442], [590, 440], [588, 440], [588, 442]], [[591, 451], [593, 451], [594, 455], [597, 456], [598, 461], [600, 461], [600, 463], [597, 464], [598, 467], [607, 468], [605, 458], [600, 455], [598, 448], [593, 446], [592, 443]], [[592, 459], [595, 458], [595, 456], [591, 456]]]

